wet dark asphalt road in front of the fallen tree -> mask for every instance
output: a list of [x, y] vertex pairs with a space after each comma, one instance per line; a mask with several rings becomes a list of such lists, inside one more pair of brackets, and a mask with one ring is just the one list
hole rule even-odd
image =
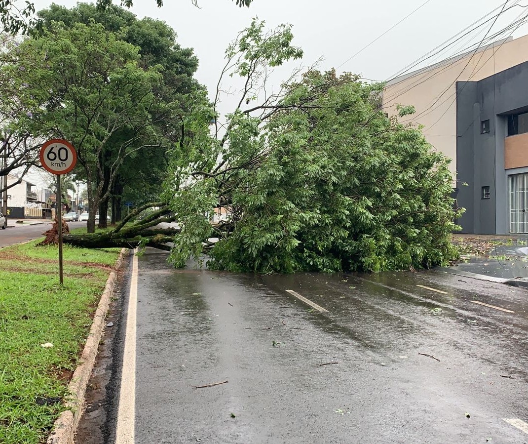
[[434, 271], [236, 275], [165, 260], [139, 258], [136, 443], [528, 442], [503, 420], [528, 422], [526, 290]]

